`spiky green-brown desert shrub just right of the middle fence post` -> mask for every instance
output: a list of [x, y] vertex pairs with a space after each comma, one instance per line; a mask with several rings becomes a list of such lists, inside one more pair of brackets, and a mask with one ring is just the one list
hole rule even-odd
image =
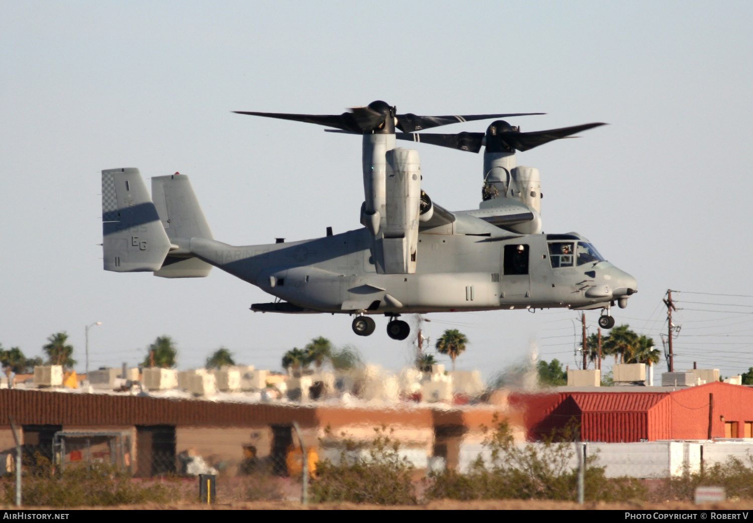
[[316, 502], [349, 501], [379, 505], [412, 505], [413, 464], [400, 457], [400, 444], [386, 427], [375, 429], [368, 445], [346, 439], [337, 463], [320, 461], [311, 485]]

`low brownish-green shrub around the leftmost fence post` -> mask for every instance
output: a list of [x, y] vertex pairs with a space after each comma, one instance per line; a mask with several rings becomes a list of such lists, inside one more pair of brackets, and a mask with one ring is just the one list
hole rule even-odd
[[[35, 455], [35, 472], [25, 474], [22, 482], [26, 506], [111, 506], [130, 503], [164, 503], [174, 497], [166, 485], [139, 485], [128, 473], [115, 467], [96, 464], [91, 467], [67, 467], [53, 472], [50, 462]], [[6, 482], [3, 501], [14, 503], [14, 482]]]

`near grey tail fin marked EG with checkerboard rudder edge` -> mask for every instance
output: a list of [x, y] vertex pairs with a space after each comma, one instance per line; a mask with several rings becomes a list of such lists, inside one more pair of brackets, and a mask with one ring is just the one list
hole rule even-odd
[[102, 250], [106, 271], [156, 271], [170, 241], [139, 169], [102, 171]]

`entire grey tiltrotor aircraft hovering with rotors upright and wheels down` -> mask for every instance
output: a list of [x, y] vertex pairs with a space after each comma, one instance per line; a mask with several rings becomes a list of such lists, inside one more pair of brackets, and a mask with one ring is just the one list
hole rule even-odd
[[[187, 176], [152, 178], [150, 197], [138, 169], [102, 171], [105, 270], [199, 278], [217, 266], [276, 296], [253, 311], [353, 315], [359, 336], [373, 333], [373, 315], [389, 318], [389, 337], [406, 339], [402, 314], [492, 309], [603, 309], [599, 324], [614, 325], [610, 307], [627, 305], [635, 278], [578, 233], [541, 233], [538, 170], [515, 160], [516, 150], [601, 123], [520, 132], [497, 120], [485, 133], [431, 134], [416, 131], [526, 114], [396, 112], [372, 102], [339, 115], [242, 113], [362, 135], [363, 227], [334, 235], [328, 229], [323, 238], [227, 245], [213, 238]], [[433, 202], [421, 188], [418, 152], [395, 147], [398, 138], [471, 152], [485, 147], [479, 208], [448, 211]]]

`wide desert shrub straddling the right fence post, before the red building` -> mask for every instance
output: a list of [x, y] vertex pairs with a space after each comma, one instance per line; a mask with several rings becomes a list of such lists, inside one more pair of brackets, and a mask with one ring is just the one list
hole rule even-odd
[[[483, 441], [489, 458], [481, 456], [467, 473], [445, 470], [430, 473], [427, 499], [575, 500], [578, 470], [571, 468], [575, 449], [567, 439], [577, 433], [569, 426], [553, 433], [543, 444], [515, 445], [506, 422], [497, 423]], [[646, 488], [636, 479], [605, 477], [597, 457], [587, 458], [584, 491], [587, 500], [630, 500], [645, 497]]]

